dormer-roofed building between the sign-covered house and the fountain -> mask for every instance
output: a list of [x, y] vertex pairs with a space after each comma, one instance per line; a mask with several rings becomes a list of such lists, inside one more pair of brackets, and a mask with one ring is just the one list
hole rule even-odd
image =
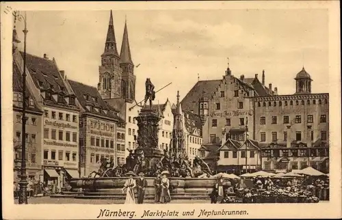
[[[97, 171], [101, 158], [122, 163], [124, 144], [122, 128], [124, 120], [101, 98], [96, 87], [68, 80], [70, 88], [77, 96], [77, 105], [81, 109], [79, 118], [80, 173], [88, 176]], [[121, 130], [120, 130], [121, 128]], [[123, 135], [124, 137], [124, 135]]]

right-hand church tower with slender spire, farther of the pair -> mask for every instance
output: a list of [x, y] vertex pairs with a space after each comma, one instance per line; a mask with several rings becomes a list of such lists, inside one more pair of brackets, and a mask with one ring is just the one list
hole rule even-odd
[[129, 37], [127, 31], [127, 20], [124, 23], [124, 34], [120, 52], [120, 67], [122, 68], [121, 92], [126, 102], [132, 103], [135, 100], [135, 75], [134, 64], [129, 48]]

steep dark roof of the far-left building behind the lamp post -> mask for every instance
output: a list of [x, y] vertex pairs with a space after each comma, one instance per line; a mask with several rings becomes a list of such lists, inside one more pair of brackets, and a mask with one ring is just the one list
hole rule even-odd
[[[13, 61], [13, 74], [12, 74], [12, 86], [13, 86], [13, 92], [23, 92], [23, 77], [21, 75], [21, 72], [18, 68], [18, 66], [16, 65], [16, 63]], [[34, 98], [34, 96], [32, 96], [31, 92], [29, 92], [29, 89], [26, 85], [26, 95], [29, 98], [33, 98], [34, 99], [34, 106], [27, 106], [27, 110], [30, 111], [39, 111], [40, 109], [38, 108], [38, 106], [36, 105], [36, 98]], [[16, 106], [18, 107], [18, 106]], [[21, 107], [19, 107], [21, 108]]]

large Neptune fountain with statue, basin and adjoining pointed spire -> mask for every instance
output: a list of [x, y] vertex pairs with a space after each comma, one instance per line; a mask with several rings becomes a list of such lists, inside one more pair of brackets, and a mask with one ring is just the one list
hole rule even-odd
[[[159, 121], [163, 118], [160, 109], [153, 109], [152, 100], [155, 99], [154, 86], [149, 79], [146, 80], [146, 96], [144, 107], [137, 120], [137, 149], [129, 150], [126, 164], [121, 167], [112, 167], [103, 161], [101, 168], [94, 173], [96, 178], [73, 178], [70, 180], [71, 190], [65, 194], [79, 198], [115, 198], [124, 199], [122, 187], [127, 177], [127, 171], [135, 174], [144, 172], [148, 187], [146, 199], [154, 198], [153, 180], [161, 171], [170, 173], [170, 188], [172, 199], [209, 199], [209, 193], [215, 184], [211, 177], [211, 170], [207, 163], [196, 157], [191, 166], [185, 154], [181, 114], [179, 113], [179, 94], [177, 94], [177, 112], [174, 115], [174, 130], [170, 149], [158, 148]], [[150, 101], [150, 108], [146, 102]], [[109, 167], [108, 167], [109, 165]], [[200, 178], [202, 177], [202, 178]], [[58, 195], [64, 196], [64, 195]]]

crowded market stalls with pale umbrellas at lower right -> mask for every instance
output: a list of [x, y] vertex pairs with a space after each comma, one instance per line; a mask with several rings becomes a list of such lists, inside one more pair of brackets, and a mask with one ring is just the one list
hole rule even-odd
[[329, 174], [312, 167], [290, 173], [216, 174], [211, 203], [314, 203], [329, 200]]

